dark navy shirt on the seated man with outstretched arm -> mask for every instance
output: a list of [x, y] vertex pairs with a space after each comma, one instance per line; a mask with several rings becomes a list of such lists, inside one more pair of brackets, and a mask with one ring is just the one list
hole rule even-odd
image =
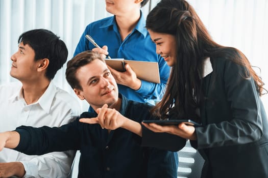
[[[122, 97], [120, 113], [141, 122], [151, 117], [149, 106]], [[80, 117], [95, 117], [84, 112]], [[29, 155], [52, 151], [80, 150], [78, 177], [161, 177], [177, 178], [178, 156], [155, 148], [140, 146], [141, 137], [118, 128], [109, 134], [99, 124], [80, 123], [79, 118], [61, 127], [21, 126], [15, 150]]]

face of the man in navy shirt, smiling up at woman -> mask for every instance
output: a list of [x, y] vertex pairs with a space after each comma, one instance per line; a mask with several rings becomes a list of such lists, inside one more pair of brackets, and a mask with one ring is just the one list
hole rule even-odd
[[76, 77], [83, 91], [75, 88], [75, 93], [81, 100], [86, 99], [94, 110], [105, 103], [111, 108], [118, 104], [117, 84], [106, 64], [101, 60], [96, 59], [79, 68]]

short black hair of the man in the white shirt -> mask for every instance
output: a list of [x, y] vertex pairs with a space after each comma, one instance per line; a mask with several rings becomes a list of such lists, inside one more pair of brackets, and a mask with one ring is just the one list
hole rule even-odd
[[68, 50], [65, 43], [53, 32], [47, 29], [33, 29], [22, 33], [18, 38], [18, 44], [28, 44], [35, 52], [35, 61], [48, 58], [50, 63], [45, 76], [52, 80], [57, 71], [62, 68], [67, 60]]

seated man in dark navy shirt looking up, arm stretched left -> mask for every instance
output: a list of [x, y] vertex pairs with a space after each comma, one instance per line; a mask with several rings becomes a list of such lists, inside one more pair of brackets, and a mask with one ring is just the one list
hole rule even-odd
[[99, 124], [80, 122], [79, 118], [97, 117], [96, 108], [103, 105], [115, 115], [119, 112], [124, 115], [122, 121], [128, 127], [151, 117], [152, 105], [118, 94], [116, 81], [99, 53], [84, 51], [72, 58], [67, 64], [66, 78], [77, 96], [85, 99], [94, 112], [84, 112], [74, 122], [61, 127], [21, 126], [0, 133], [0, 150], [6, 146], [28, 155], [80, 150], [78, 177], [177, 178], [176, 152], [142, 147], [141, 137], [124, 128], [110, 130]]

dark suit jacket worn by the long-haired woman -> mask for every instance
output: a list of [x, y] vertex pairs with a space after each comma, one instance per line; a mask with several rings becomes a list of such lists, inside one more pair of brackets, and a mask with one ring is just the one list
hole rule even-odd
[[[268, 123], [254, 80], [246, 78], [245, 67], [229, 60], [210, 61], [213, 72], [202, 79], [203, 127], [196, 128], [197, 141], [191, 141], [205, 159], [202, 177], [268, 177]], [[142, 132], [147, 146], [175, 151], [185, 144], [168, 135], [154, 139], [145, 128]]]

